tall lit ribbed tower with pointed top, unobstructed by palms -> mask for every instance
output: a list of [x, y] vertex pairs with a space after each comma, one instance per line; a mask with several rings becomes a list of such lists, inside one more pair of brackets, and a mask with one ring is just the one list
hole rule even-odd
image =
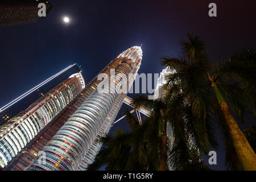
[[[98, 139], [108, 134], [127, 92], [116, 86], [131, 85], [141, 65], [141, 47], [122, 52], [102, 70], [108, 75], [109, 89], [101, 92], [100, 80], [95, 77], [78, 97], [83, 101], [75, 113], [57, 131], [26, 170], [85, 170], [101, 148]], [[114, 78], [111, 69], [115, 69]], [[133, 73], [133, 77], [129, 77]], [[118, 75], [122, 74], [122, 79]], [[117, 77], [116, 77], [117, 76]], [[127, 89], [129, 90], [129, 89]]]

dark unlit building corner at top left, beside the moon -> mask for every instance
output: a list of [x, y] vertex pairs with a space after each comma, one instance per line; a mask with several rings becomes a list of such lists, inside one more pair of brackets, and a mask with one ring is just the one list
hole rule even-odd
[[39, 17], [39, 3], [46, 5], [46, 14], [52, 8], [48, 0], [1, 0], [0, 26], [36, 22]]

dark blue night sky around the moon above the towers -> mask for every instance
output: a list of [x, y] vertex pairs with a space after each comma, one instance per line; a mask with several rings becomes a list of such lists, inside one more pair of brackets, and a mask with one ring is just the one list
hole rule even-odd
[[[187, 32], [206, 41], [213, 63], [256, 44], [255, 0], [49, 2], [53, 7], [45, 19], [0, 27], [0, 106], [73, 63], [82, 66], [88, 83], [119, 53], [142, 43], [139, 73], [159, 73], [159, 57], [179, 55]], [[211, 2], [217, 17], [208, 16]], [[64, 24], [63, 16], [71, 22]], [[117, 127], [127, 130], [126, 121], [111, 133]], [[217, 165], [210, 167], [224, 170], [224, 163], [220, 145]]]

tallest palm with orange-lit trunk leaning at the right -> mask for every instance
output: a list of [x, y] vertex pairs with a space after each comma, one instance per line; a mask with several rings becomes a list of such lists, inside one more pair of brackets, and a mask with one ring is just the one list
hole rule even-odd
[[[167, 86], [180, 82], [185, 99], [191, 104], [192, 115], [196, 119], [205, 121], [208, 114], [216, 115], [218, 106], [225, 121], [221, 123], [224, 126], [223, 131], [228, 130], [228, 137], [232, 139], [233, 148], [243, 169], [256, 170], [256, 155], [234, 120], [222, 91], [225, 90], [225, 98], [238, 116], [242, 116], [242, 111], [245, 111], [243, 109], [255, 111], [255, 49], [242, 51], [219, 62], [214, 68], [205, 53], [205, 43], [199, 36], [188, 34], [188, 39], [189, 41], [181, 42], [183, 57], [162, 57], [161, 64], [164, 67], [177, 71], [168, 77]], [[231, 79], [239, 85], [230, 82]], [[230, 91], [232, 87], [236, 89]], [[243, 96], [241, 98], [245, 98], [244, 101], [232, 100], [236, 94]]]

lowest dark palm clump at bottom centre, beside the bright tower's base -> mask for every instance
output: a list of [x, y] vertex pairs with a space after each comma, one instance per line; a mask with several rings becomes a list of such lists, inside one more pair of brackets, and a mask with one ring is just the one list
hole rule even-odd
[[[131, 131], [125, 133], [118, 129], [114, 136], [107, 135], [102, 138], [99, 142], [103, 142], [103, 147], [88, 170], [100, 169], [104, 165], [106, 170], [114, 171], [157, 169], [159, 155], [154, 149], [159, 140], [157, 136], [151, 136], [154, 133], [148, 132], [150, 120], [145, 119], [140, 125], [129, 111], [126, 111], [126, 118]], [[154, 144], [149, 146], [150, 139]]]

